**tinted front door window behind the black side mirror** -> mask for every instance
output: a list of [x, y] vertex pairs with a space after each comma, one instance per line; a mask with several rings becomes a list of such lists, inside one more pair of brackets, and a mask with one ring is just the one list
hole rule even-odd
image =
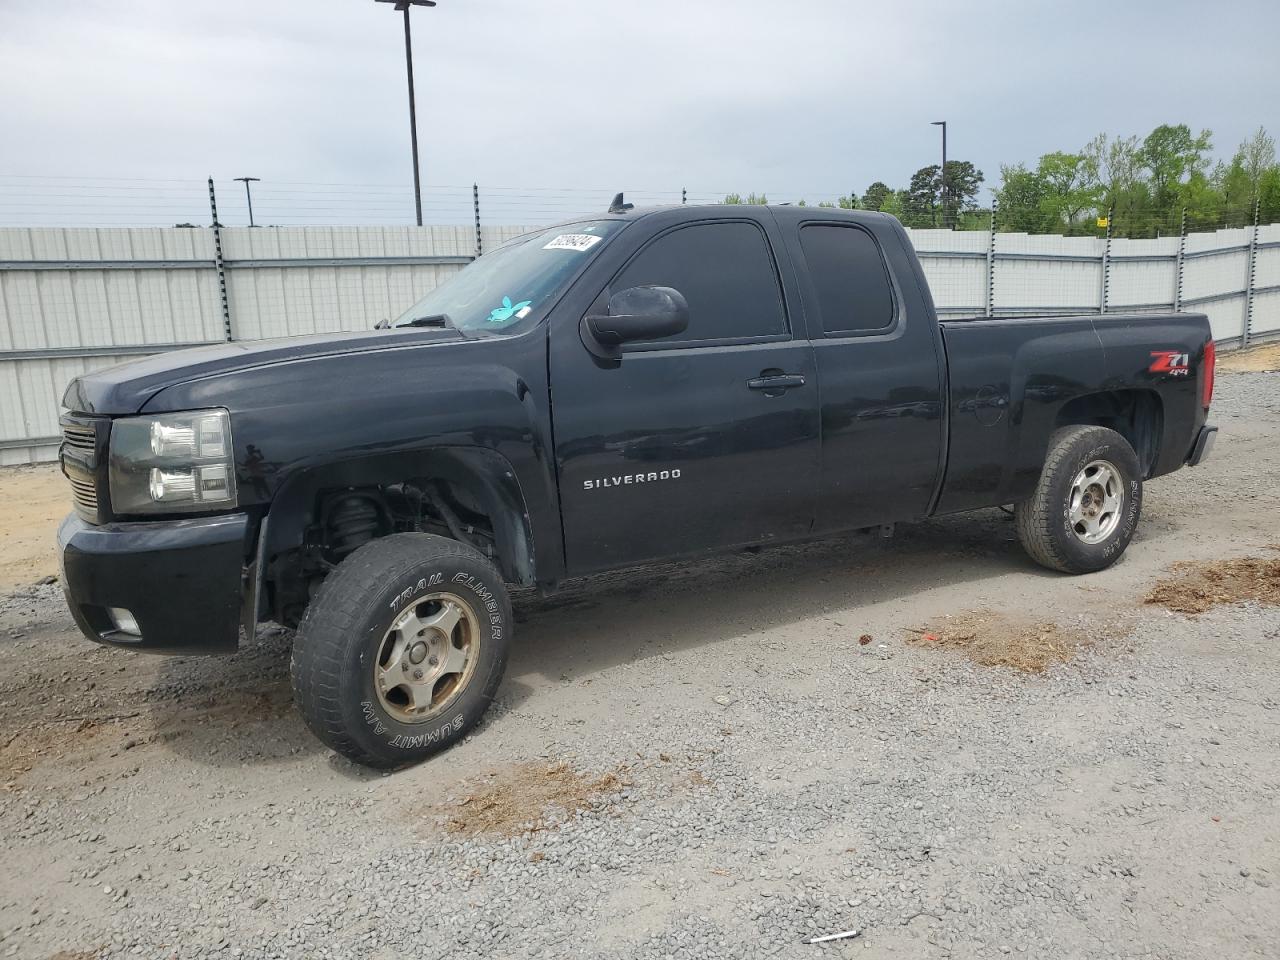
[[673, 287], [689, 301], [689, 328], [648, 343], [787, 334], [778, 271], [768, 239], [754, 223], [698, 223], [660, 234], [622, 268], [609, 289], [641, 285]]

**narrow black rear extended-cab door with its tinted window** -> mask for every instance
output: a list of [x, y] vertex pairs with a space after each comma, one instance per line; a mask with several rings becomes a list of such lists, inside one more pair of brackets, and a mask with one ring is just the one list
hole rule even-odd
[[890, 221], [791, 214], [822, 397], [818, 531], [928, 513], [942, 470], [942, 357], [910, 241]]

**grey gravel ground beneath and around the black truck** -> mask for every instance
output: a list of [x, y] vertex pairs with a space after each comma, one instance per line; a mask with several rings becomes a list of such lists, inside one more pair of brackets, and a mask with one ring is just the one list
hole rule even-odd
[[[1276, 556], [1280, 375], [1213, 419], [1100, 575], [988, 511], [518, 598], [499, 704], [390, 776], [308, 736], [283, 631], [133, 657], [10, 594], [0, 956], [1277, 956], [1280, 608], [1142, 604]], [[1092, 644], [1043, 675], [906, 644], [977, 609]]]

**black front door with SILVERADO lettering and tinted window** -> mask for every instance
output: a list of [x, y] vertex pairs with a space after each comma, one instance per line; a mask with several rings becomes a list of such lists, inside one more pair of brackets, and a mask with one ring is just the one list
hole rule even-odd
[[813, 348], [792, 334], [777, 225], [721, 215], [663, 228], [654, 216], [593, 308], [631, 287], [673, 287], [689, 328], [626, 344], [618, 361], [593, 356], [576, 323], [550, 338], [571, 573], [797, 538], [813, 524]]

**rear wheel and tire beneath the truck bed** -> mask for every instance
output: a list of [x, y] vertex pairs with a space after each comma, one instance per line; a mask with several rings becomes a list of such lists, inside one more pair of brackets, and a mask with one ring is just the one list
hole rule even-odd
[[[1076, 493], [1079, 499], [1073, 500]], [[1125, 552], [1140, 516], [1138, 456], [1124, 436], [1105, 426], [1055, 431], [1036, 493], [1014, 508], [1023, 549], [1041, 566], [1064, 573], [1110, 567]]]

